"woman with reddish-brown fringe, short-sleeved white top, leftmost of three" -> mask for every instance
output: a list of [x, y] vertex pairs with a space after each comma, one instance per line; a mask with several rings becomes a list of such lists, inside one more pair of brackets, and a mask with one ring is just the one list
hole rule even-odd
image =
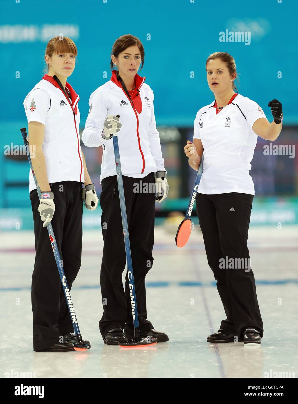
[[31, 155], [32, 166], [41, 191], [39, 199], [30, 170], [36, 249], [31, 289], [34, 351], [74, 351], [73, 342], [76, 342], [45, 227], [52, 223], [71, 288], [81, 265], [83, 183], [86, 208], [95, 210], [98, 204], [80, 147], [80, 98], [66, 82], [74, 71], [76, 55], [76, 45], [70, 38], [52, 38], [44, 57], [48, 74], [24, 101], [30, 151], [35, 151], [35, 156]]

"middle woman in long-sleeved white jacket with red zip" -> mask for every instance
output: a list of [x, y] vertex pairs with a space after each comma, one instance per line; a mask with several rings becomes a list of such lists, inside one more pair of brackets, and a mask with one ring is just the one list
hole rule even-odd
[[155, 200], [165, 200], [169, 186], [154, 118], [154, 94], [144, 83], [145, 77], [137, 74], [144, 59], [144, 47], [135, 36], [123, 35], [114, 42], [110, 62], [112, 77], [91, 94], [89, 116], [82, 135], [86, 146], [102, 146], [104, 149], [100, 174], [104, 238], [100, 284], [104, 313], [99, 329], [108, 345], [116, 345], [134, 336], [127, 275], [125, 290], [122, 284], [126, 256], [111, 140], [115, 132], [118, 135], [141, 337], [156, 337], [158, 342], [169, 339], [165, 333], [154, 330], [147, 320], [145, 277], [153, 264]]

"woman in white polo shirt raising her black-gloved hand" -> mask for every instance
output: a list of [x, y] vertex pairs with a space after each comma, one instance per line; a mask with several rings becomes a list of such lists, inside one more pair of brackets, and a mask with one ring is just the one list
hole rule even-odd
[[208, 342], [261, 343], [263, 323], [250, 268], [247, 236], [254, 198], [249, 175], [257, 137], [273, 141], [281, 132], [281, 103], [268, 103], [274, 121], [262, 108], [238, 94], [235, 60], [216, 52], [206, 62], [207, 82], [215, 101], [199, 109], [194, 120], [193, 143], [184, 152], [189, 165], [198, 170], [204, 156], [203, 175], [196, 197], [196, 210], [203, 233], [208, 264], [226, 320]]

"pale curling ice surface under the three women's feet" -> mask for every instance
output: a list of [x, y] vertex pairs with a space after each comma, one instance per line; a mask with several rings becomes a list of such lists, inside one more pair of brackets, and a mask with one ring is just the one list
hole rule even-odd
[[180, 249], [173, 234], [156, 227], [154, 265], [146, 277], [148, 319], [169, 335], [168, 343], [145, 349], [104, 345], [98, 321], [101, 231], [84, 231], [82, 267], [72, 288], [85, 353], [38, 353], [32, 347], [30, 284], [33, 231], [1, 234], [1, 377], [32, 372], [35, 377], [264, 377], [264, 372], [296, 372], [298, 228], [252, 227], [251, 266], [264, 322], [260, 349], [243, 343], [209, 344], [225, 318], [202, 235], [192, 231]]

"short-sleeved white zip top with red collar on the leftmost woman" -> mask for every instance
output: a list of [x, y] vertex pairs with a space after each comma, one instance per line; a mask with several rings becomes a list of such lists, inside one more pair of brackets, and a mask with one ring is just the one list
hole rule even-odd
[[[31, 121], [44, 124], [42, 151], [49, 183], [84, 181], [78, 132], [80, 124], [78, 101], [80, 98], [70, 84], [66, 83], [66, 88], [71, 95], [71, 104], [56, 80], [46, 74], [24, 100], [28, 124]], [[30, 170], [29, 192], [35, 188]]]

